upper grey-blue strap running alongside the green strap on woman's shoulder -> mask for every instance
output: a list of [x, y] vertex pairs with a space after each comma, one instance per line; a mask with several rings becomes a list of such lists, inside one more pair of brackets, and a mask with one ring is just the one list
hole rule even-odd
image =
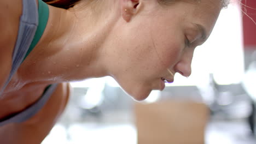
[[13, 65], [7, 81], [4, 83], [0, 91], [0, 100], [2, 93], [11, 80], [11, 77], [16, 73], [25, 57], [28, 48], [34, 38], [38, 26], [38, 8], [36, 0], [23, 0], [22, 1], [22, 15], [20, 17], [20, 25], [18, 37], [13, 51]]

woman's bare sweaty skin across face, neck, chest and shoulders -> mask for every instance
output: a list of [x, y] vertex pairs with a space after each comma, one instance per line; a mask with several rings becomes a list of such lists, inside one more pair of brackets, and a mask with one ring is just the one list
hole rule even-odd
[[[15, 3], [11, 4], [14, 9], [19, 6], [21, 10], [20, 1], [11, 2]], [[40, 143], [67, 104], [69, 86], [63, 82], [110, 75], [134, 99], [143, 100], [153, 89], [160, 89], [161, 77], [171, 76], [167, 69], [189, 76], [199, 42], [186, 45], [186, 36], [191, 37], [187, 29], [199, 23], [210, 35], [220, 11], [218, 0], [177, 1], [165, 6], [156, 0], [106, 0], [101, 1], [104, 7], [97, 13], [92, 6], [83, 7], [83, 2], [69, 10], [49, 6], [49, 21], [42, 38], [4, 91], [0, 118], [33, 104], [47, 85], [61, 84], [36, 116], [0, 128], [1, 142]], [[20, 13], [13, 15], [14, 11], [0, 14], [19, 18]], [[9, 17], [0, 18], [5, 21]], [[4, 29], [10, 26], [18, 33], [18, 18], [16, 23], [1, 23], [1, 32], [8, 35]], [[14, 35], [8, 41], [10, 46], [15, 44]], [[0, 51], [2, 61], [7, 63], [0, 63], [1, 87], [9, 74], [12, 49]]]

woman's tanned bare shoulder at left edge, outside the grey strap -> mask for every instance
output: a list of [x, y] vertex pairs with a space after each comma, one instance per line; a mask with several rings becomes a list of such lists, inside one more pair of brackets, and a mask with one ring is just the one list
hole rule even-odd
[[0, 89], [11, 69], [12, 53], [19, 30], [22, 1], [0, 1]]

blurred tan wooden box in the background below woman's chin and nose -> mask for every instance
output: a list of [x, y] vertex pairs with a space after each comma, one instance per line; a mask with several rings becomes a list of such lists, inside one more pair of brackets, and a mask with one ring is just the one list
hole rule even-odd
[[209, 111], [193, 101], [135, 105], [138, 144], [202, 144]]

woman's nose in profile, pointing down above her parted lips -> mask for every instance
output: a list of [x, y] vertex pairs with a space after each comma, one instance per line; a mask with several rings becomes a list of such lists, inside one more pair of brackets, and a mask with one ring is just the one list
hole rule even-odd
[[190, 76], [192, 59], [193, 59], [193, 52], [184, 53], [180, 61], [177, 62], [176, 65], [174, 65], [174, 71], [185, 77]]

